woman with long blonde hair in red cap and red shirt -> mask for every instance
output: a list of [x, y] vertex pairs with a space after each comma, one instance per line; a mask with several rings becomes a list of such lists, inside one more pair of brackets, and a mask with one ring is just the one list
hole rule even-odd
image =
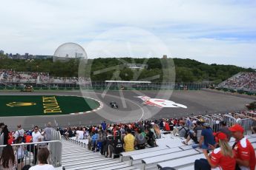
[[195, 170], [210, 169], [235, 169], [235, 153], [229, 146], [228, 137], [223, 132], [217, 133], [216, 142], [220, 146], [208, 155], [207, 150], [203, 149], [206, 159], [195, 160]]

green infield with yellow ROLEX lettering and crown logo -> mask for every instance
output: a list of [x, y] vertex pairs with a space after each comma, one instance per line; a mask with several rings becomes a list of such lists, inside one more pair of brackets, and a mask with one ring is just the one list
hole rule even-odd
[[68, 115], [88, 112], [99, 106], [98, 101], [78, 96], [0, 95], [0, 117]]

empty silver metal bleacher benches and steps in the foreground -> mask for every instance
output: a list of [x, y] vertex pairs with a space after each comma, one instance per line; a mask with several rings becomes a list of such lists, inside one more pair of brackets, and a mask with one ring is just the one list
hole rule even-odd
[[[246, 135], [256, 149], [256, 135]], [[71, 142], [73, 141], [73, 142]], [[205, 158], [201, 149], [192, 149], [182, 143], [183, 139], [163, 135], [157, 140], [158, 147], [122, 152], [119, 158], [103, 157], [99, 152], [85, 148], [85, 142], [62, 140], [62, 167], [65, 169], [194, 169], [194, 161]], [[84, 143], [84, 144], [82, 144]], [[232, 146], [234, 138], [229, 142]]]

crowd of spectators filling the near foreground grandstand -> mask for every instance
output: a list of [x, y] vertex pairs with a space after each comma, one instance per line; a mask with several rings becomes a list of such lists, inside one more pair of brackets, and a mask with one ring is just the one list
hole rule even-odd
[[[237, 122], [240, 119], [237, 117]], [[225, 121], [216, 121], [215, 123], [218, 126], [210, 126], [203, 117], [197, 116], [142, 120], [135, 123], [106, 123], [104, 121], [98, 125], [68, 126], [57, 128], [57, 130], [66, 140], [70, 137], [77, 140], [87, 139], [88, 149], [92, 152], [100, 152], [105, 157], [118, 157], [120, 152], [156, 147], [157, 140], [163, 134], [171, 134], [182, 137], [182, 143], [185, 145], [194, 149], [203, 149], [206, 158], [195, 160], [194, 169], [255, 169], [255, 150], [243, 135], [243, 127], [239, 123], [234, 123], [234, 126], [231, 127], [228, 127]], [[10, 146], [13, 143], [49, 141], [52, 129], [51, 123], [47, 123], [45, 129], [34, 126], [32, 130], [27, 131], [18, 125], [16, 131], [9, 132], [7, 125], [0, 123], [4, 145], [7, 145], [1, 154], [0, 166], [26, 168], [24, 157], [27, 156], [28, 152], [31, 152], [35, 166], [30, 169], [39, 169], [39, 165], [52, 169], [53, 167], [47, 164], [49, 151], [46, 144], [45, 146], [34, 147], [33, 150], [24, 146]], [[235, 139], [233, 146], [229, 146], [231, 137]], [[6, 153], [13, 154], [15, 158], [13, 159], [13, 155], [6, 157]], [[39, 165], [36, 166], [36, 164]]]

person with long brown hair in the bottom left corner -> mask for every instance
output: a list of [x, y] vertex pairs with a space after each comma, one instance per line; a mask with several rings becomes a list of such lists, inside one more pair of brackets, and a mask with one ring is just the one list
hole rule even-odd
[[13, 152], [13, 147], [10, 145], [4, 146], [0, 157], [0, 169], [16, 170], [17, 162]]

